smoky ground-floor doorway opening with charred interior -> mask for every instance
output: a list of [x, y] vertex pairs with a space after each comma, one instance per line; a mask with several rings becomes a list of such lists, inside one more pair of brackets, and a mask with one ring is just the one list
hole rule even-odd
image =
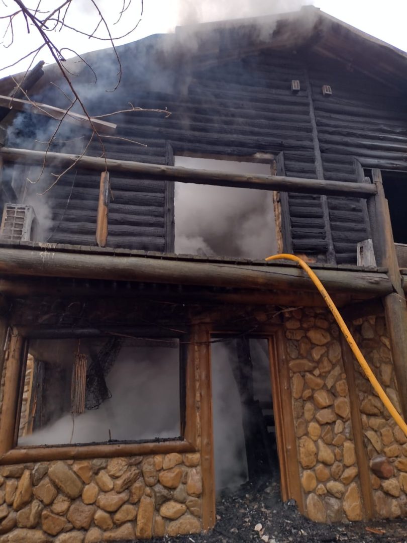
[[246, 482], [279, 482], [267, 339], [221, 338], [212, 344], [217, 494]]

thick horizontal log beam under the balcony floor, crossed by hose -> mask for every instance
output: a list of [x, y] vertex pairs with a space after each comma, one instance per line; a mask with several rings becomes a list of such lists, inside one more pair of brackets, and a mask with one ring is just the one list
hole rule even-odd
[[[3, 248], [0, 251], [0, 273], [263, 290], [315, 289], [300, 267], [288, 264], [246, 266], [139, 256], [73, 254], [52, 249]], [[319, 269], [316, 274], [332, 293], [383, 296], [392, 292], [389, 278], [383, 273]]]

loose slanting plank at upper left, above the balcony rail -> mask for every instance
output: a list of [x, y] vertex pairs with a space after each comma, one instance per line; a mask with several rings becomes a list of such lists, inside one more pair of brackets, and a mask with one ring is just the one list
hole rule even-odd
[[[17, 111], [29, 111], [30, 113], [38, 113], [39, 115], [45, 115], [49, 118], [64, 119], [68, 123], [75, 124], [80, 128], [87, 128], [100, 132], [101, 134], [114, 134], [117, 125], [114, 123], [108, 123], [106, 121], [100, 121], [91, 117], [91, 122], [85, 115], [80, 113], [74, 113], [73, 111], [66, 112], [65, 109], [55, 108], [52, 105], [42, 104], [40, 102], [30, 102], [29, 100], [23, 100], [21, 98], [10, 98], [10, 96], [3, 96], [0, 94], [0, 106], [2, 108], [9, 108], [10, 110], [16, 109]], [[92, 124], [91, 124], [92, 123]], [[93, 125], [93, 127], [92, 127]]]

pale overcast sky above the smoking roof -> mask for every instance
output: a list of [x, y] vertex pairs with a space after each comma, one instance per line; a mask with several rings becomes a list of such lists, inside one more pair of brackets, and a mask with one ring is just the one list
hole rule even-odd
[[[7, 5], [4, 5], [5, 4]], [[0, 16], [7, 15], [16, 10], [14, 0], [0, 2]], [[125, 5], [128, 0], [125, 0]], [[36, 5], [38, 0], [26, 0], [27, 5]], [[42, 0], [42, 7], [54, 9], [58, 5], [56, 0]], [[118, 12], [123, 0], [97, 0], [97, 4], [110, 21], [112, 34], [117, 36], [128, 32], [137, 22], [141, 0], [132, 0], [130, 7], [126, 10], [122, 20], [115, 26]], [[206, 22], [221, 20], [224, 18], [239, 18], [246, 16], [262, 16], [276, 12], [284, 12], [298, 9], [302, 4], [314, 4], [321, 10], [345, 21], [365, 32], [387, 41], [392, 45], [407, 51], [407, 0], [144, 0], [144, 14], [138, 28], [119, 40], [120, 43], [135, 41], [141, 37], [155, 33], [166, 33], [173, 31], [177, 24]], [[73, 26], [82, 29], [92, 28], [97, 16], [91, 7], [90, 0], [74, 0], [71, 10], [71, 18], [68, 18]], [[21, 18], [14, 20], [14, 43], [9, 45], [10, 31], [3, 38], [6, 30], [7, 20], [0, 20], [0, 68], [4, 68], [15, 62], [21, 56], [26, 55], [30, 50], [35, 49], [41, 43], [35, 29], [27, 34], [27, 27]], [[99, 28], [99, 35], [105, 35], [103, 25]], [[89, 40], [72, 31], [62, 31], [52, 36], [59, 47], [67, 47], [65, 54], [72, 56], [72, 50], [84, 53], [107, 47], [106, 41]], [[36, 60], [51, 62], [52, 58], [46, 49], [42, 49]], [[10, 73], [18, 73], [26, 70], [27, 60], [20, 64], [5, 68], [0, 71], [0, 77]]]

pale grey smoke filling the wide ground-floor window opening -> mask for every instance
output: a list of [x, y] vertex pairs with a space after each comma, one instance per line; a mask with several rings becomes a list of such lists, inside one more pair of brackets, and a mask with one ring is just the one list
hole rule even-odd
[[19, 438], [18, 445], [101, 442], [109, 440], [109, 430], [113, 440], [180, 435], [178, 349], [123, 346], [106, 384], [112, 397], [98, 409], [75, 415], [74, 426], [67, 413]]

